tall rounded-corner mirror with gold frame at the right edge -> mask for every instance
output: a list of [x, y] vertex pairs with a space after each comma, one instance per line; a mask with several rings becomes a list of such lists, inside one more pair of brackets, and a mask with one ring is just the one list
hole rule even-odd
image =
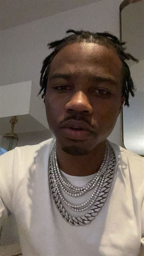
[[122, 109], [123, 147], [144, 156], [144, 0], [124, 0], [120, 5], [120, 40], [126, 42], [126, 52], [139, 63], [129, 65], [136, 91], [129, 96], [129, 108]]

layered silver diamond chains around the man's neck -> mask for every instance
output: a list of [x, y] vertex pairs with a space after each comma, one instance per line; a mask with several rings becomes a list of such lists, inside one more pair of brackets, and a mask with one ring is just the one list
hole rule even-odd
[[[49, 163], [49, 182], [54, 202], [61, 216], [67, 221], [67, 223], [75, 226], [85, 226], [86, 224], [91, 223], [95, 216], [98, 215], [111, 189], [116, 163], [114, 151], [107, 140], [105, 156], [100, 169], [91, 181], [79, 188], [74, 187], [74, 185], [68, 182], [60, 171], [57, 163], [56, 149], [57, 143], [55, 142], [51, 151]], [[91, 189], [94, 189], [91, 196], [86, 201], [77, 205], [68, 202], [64, 198], [62, 192], [64, 191], [72, 197], [82, 197]], [[81, 217], [71, 216], [67, 213], [63, 203], [75, 212], [83, 212], [87, 210], [87, 213]]]

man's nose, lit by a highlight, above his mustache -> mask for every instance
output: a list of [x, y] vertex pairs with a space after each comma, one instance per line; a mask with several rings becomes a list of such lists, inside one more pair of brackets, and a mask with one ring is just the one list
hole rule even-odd
[[90, 105], [84, 92], [79, 91], [70, 99], [65, 106], [66, 111], [86, 112], [92, 114], [93, 108]]

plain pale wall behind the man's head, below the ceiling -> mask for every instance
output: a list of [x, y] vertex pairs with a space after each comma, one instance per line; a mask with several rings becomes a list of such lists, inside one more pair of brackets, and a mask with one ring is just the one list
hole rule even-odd
[[[47, 49], [47, 43], [68, 36], [67, 29], [109, 31], [119, 37], [121, 2], [101, 0], [1, 32], [1, 85], [32, 80], [30, 114], [45, 127], [48, 127], [45, 106], [37, 94], [42, 61], [52, 51]], [[121, 145], [120, 116], [109, 139]]]

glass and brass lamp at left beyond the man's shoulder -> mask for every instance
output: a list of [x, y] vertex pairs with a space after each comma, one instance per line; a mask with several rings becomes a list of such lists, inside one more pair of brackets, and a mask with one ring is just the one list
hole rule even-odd
[[12, 124], [11, 132], [5, 133], [2, 136], [2, 147], [7, 151], [14, 149], [17, 146], [19, 139], [18, 135], [13, 132], [15, 123], [18, 122], [18, 117], [12, 116], [12, 119], [9, 122]]

